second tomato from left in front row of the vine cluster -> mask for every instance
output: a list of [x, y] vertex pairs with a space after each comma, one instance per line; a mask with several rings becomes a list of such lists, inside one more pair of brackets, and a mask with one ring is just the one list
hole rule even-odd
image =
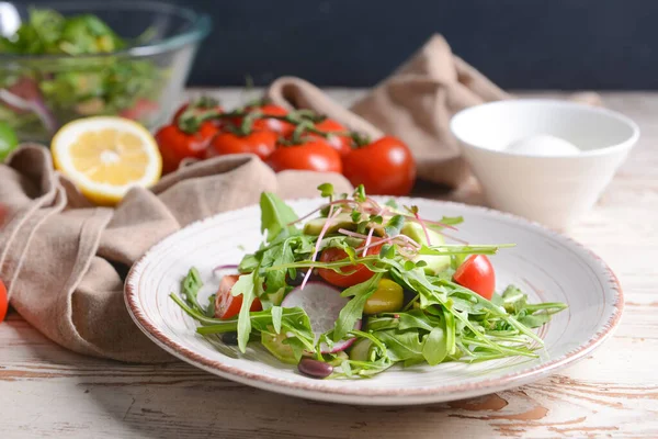
[[266, 159], [276, 147], [277, 134], [273, 131], [253, 131], [246, 136], [234, 133], [219, 133], [206, 150], [206, 158], [226, 154], [256, 154]]

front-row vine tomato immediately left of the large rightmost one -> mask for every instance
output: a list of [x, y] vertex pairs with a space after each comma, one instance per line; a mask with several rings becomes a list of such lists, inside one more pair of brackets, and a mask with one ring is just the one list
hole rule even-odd
[[342, 172], [340, 154], [324, 140], [308, 139], [300, 145], [280, 146], [268, 158], [276, 172], [286, 169]]

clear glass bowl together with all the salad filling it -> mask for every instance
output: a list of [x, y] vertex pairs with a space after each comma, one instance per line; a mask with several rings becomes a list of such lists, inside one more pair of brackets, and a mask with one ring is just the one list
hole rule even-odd
[[205, 15], [149, 1], [3, 2], [0, 16], [0, 120], [21, 140], [92, 115], [159, 125], [209, 31]]

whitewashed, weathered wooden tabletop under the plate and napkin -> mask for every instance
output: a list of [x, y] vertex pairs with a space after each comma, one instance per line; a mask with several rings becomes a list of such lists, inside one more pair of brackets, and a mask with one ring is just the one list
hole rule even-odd
[[[358, 93], [332, 91], [349, 103]], [[219, 90], [228, 106], [240, 94]], [[658, 437], [658, 93], [605, 93], [642, 139], [569, 234], [619, 275], [615, 336], [577, 365], [476, 399], [407, 408], [322, 404], [183, 362], [123, 364], [68, 352], [15, 313], [0, 325], [2, 438]]]

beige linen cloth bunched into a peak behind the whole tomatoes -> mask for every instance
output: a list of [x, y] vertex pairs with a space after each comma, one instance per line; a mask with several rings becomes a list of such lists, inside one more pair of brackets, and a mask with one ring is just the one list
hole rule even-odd
[[[441, 35], [433, 35], [416, 54], [350, 110], [311, 83], [294, 77], [275, 80], [266, 95], [276, 104], [311, 109], [372, 138], [384, 133], [405, 140], [422, 180], [457, 187], [468, 180], [450, 120], [460, 110], [510, 99], [484, 75], [452, 54]], [[594, 93], [571, 99], [600, 104]]]

